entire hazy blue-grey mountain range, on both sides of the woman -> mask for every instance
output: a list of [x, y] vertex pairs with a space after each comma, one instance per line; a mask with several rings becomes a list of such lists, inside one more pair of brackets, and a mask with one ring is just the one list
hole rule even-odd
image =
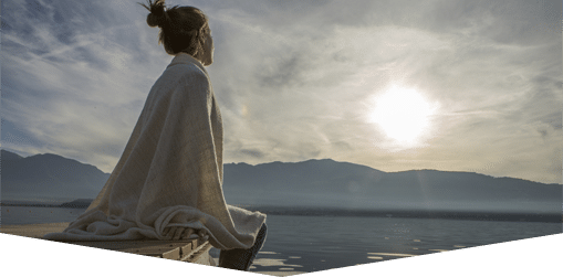
[[[1, 150], [3, 203], [93, 199], [108, 173], [58, 155]], [[561, 213], [563, 185], [473, 172], [384, 172], [331, 159], [223, 166], [228, 203], [270, 206]]]

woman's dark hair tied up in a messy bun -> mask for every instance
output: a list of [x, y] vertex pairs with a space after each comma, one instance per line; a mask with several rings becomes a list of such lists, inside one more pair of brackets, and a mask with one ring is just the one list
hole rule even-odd
[[149, 26], [159, 26], [158, 43], [164, 45], [166, 53], [176, 55], [180, 52], [198, 57], [204, 53], [204, 41], [209, 32], [209, 20], [201, 10], [195, 7], [166, 9], [165, 0], [147, 0], [147, 4], [138, 3], [150, 13], [147, 15]]

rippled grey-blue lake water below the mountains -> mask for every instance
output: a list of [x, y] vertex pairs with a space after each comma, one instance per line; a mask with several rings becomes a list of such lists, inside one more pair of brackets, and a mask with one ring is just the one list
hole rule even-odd
[[[2, 206], [1, 224], [71, 222], [84, 211]], [[561, 223], [361, 216], [268, 215], [267, 224], [251, 270], [288, 275], [563, 233]]]

